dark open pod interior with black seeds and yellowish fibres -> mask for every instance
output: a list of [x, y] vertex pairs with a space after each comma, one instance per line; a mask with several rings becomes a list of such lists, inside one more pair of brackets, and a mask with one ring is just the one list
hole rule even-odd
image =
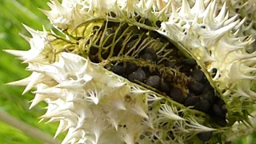
[[[139, 17], [138, 21], [150, 25], [146, 19]], [[94, 35], [97, 37], [91, 38], [94, 41], [86, 51], [92, 62], [108, 61], [106, 69], [115, 74], [209, 114], [218, 125], [226, 126], [225, 102], [216, 95], [197, 62], [186, 58], [166, 38], [122, 22], [94, 26]], [[211, 135], [200, 133], [198, 138], [208, 141]]]

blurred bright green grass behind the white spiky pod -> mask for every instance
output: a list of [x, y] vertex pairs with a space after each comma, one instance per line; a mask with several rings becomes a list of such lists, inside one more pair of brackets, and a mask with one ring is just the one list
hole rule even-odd
[[[50, 29], [50, 22], [38, 8], [49, 10], [46, 5], [49, 0], [0, 0], [0, 110], [5, 110], [15, 118], [26, 122], [27, 124], [37, 127], [48, 134], [54, 135], [58, 127], [58, 122], [45, 124], [38, 123], [42, 114], [45, 113], [43, 107], [45, 103], [41, 102], [32, 110], [29, 110], [29, 101], [34, 98], [33, 94], [27, 93], [22, 95], [22, 86], [6, 86], [5, 83], [13, 82], [30, 75], [26, 72], [26, 64], [14, 59], [14, 56], [6, 54], [4, 49], [10, 50], [29, 50], [30, 46], [18, 34], [30, 34], [22, 26], [24, 23], [35, 30], [42, 30], [42, 25]], [[58, 136], [64, 138], [65, 134]], [[256, 143], [256, 134], [239, 140], [238, 144]], [[43, 143], [35, 138], [30, 138], [23, 134], [22, 131], [7, 125], [0, 121], [0, 144], [15, 143]]]

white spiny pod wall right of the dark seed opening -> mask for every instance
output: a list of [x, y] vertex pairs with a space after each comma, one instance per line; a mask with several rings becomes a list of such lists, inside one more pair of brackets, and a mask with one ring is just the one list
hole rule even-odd
[[[242, 114], [243, 104], [238, 104], [238, 99], [251, 102], [255, 98], [254, 91], [250, 90], [250, 83], [255, 79], [256, 55], [255, 52], [246, 52], [254, 39], [250, 36], [238, 37], [232, 33], [240, 23], [239, 20], [234, 21], [236, 16], [229, 18], [226, 5], [215, 15], [214, 1], [206, 8], [200, 3], [202, 1], [197, 1], [190, 8], [183, 1], [181, 9], [170, 16], [169, 22], [162, 22], [163, 34], [180, 42], [189, 51], [205, 73], [208, 73], [212, 85], [221, 93], [230, 110]], [[173, 9], [176, 11], [177, 8], [173, 5]], [[212, 69], [218, 70], [214, 78], [210, 78]]]

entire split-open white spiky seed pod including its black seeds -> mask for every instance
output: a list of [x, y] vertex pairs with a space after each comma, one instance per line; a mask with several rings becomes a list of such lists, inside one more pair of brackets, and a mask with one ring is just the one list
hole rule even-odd
[[254, 109], [255, 4], [52, 0], [59, 33], [25, 26], [30, 50], [6, 52], [32, 74], [10, 85], [36, 88], [62, 143], [221, 143]]

